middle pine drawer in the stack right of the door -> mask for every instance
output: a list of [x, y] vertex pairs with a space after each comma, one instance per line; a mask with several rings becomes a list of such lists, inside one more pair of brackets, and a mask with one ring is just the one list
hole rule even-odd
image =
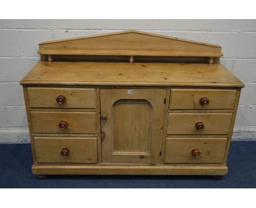
[[167, 134], [229, 134], [232, 113], [168, 113]]

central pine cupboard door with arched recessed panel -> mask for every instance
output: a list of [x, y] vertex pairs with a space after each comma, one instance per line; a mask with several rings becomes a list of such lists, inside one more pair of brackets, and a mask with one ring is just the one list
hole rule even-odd
[[165, 89], [101, 89], [103, 163], [158, 163]]

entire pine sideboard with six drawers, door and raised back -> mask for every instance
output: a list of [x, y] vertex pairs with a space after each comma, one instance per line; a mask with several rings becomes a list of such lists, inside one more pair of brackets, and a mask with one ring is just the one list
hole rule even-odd
[[129, 30], [39, 44], [22, 79], [32, 172], [213, 175], [243, 83], [218, 45]]

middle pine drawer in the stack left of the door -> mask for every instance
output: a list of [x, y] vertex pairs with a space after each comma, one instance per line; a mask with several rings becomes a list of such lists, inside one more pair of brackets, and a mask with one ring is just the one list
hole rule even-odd
[[31, 111], [34, 133], [96, 133], [96, 112]]

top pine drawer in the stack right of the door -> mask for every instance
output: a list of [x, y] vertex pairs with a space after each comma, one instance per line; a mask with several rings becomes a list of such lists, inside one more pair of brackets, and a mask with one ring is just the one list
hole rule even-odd
[[236, 90], [171, 89], [170, 109], [234, 109]]

